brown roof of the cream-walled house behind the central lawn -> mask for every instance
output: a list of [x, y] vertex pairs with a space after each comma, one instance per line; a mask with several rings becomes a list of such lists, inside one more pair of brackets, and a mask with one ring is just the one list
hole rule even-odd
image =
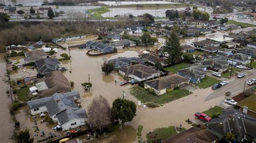
[[171, 74], [167, 75], [164, 77], [157, 78], [155, 80], [147, 81], [145, 84], [149, 85], [150, 87], [157, 89], [157, 90], [162, 90], [166, 88], [170, 88], [171, 84], [176, 87], [178, 84], [183, 83], [183, 82], [188, 82], [188, 78], [177, 75], [177, 74]]

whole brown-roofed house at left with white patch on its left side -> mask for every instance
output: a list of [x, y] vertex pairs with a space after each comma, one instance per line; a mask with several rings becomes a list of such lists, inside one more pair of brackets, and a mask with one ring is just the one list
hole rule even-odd
[[70, 82], [61, 71], [44, 73], [43, 78], [37, 78], [33, 82], [36, 84], [39, 96], [50, 96], [56, 92], [65, 93], [71, 90]]

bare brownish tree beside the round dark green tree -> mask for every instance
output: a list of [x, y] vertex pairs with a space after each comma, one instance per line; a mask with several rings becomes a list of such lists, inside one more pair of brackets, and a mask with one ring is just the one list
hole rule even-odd
[[102, 95], [94, 98], [88, 110], [88, 123], [91, 127], [102, 129], [112, 123], [112, 112], [109, 102]]

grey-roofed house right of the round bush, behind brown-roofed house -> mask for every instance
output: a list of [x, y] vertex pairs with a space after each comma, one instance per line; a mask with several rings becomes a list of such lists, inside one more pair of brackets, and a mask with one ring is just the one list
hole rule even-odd
[[134, 63], [144, 64], [146, 61], [142, 60], [142, 59], [139, 59], [139, 58], [136, 58], [136, 57], [131, 57], [131, 58], [120, 57], [120, 58], [117, 58], [117, 59], [109, 60], [108, 62], [113, 63], [114, 68], [124, 68], [124, 67], [129, 67], [131, 65], [131, 63], [132, 64], [134, 64]]

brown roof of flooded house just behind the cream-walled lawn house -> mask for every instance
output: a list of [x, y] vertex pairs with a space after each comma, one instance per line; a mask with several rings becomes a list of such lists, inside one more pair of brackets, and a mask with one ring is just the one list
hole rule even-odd
[[128, 68], [120, 68], [119, 70], [123, 71], [124, 73], [126, 73], [126, 75], [128, 74], [132, 74], [135, 75], [139, 78], [145, 78], [145, 77], [149, 77], [153, 74], [157, 74], [160, 73], [158, 70], [153, 69], [151, 67], [142, 65], [142, 64], [137, 64], [137, 65], [131, 65]]

